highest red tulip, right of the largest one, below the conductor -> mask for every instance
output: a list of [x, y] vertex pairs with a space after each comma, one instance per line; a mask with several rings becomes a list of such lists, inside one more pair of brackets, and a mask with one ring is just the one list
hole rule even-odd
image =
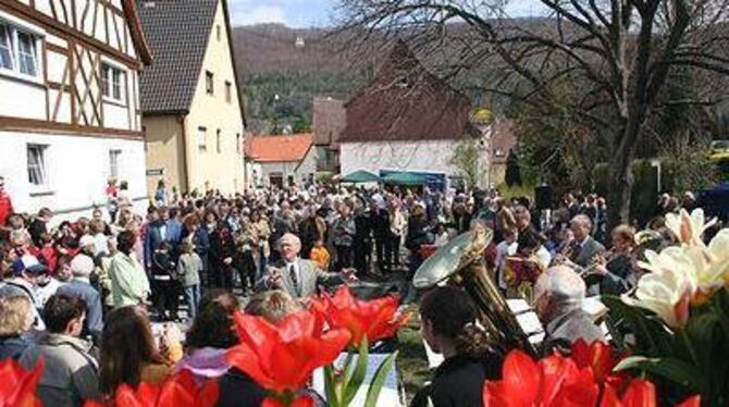
[[351, 334], [350, 346], [359, 346], [367, 337], [372, 344], [394, 336], [407, 317], [397, 317], [398, 299], [395, 296], [363, 301], [355, 298], [349, 287], [339, 287], [334, 297], [323, 295], [314, 308], [323, 309], [332, 328], [344, 328]]

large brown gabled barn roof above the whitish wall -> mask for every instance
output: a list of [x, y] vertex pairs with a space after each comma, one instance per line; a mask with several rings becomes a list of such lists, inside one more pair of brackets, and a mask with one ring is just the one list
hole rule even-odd
[[468, 98], [428, 72], [403, 41], [346, 110], [341, 143], [458, 139], [471, 131]]

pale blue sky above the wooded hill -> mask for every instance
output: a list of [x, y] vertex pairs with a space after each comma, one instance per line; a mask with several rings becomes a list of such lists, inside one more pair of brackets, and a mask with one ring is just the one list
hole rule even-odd
[[[291, 27], [331, 26], [336, 0], [228, 0], [233, 25], [281, 23]], [[539, 13], [539, 0], [509, 0], [511, 16]]]

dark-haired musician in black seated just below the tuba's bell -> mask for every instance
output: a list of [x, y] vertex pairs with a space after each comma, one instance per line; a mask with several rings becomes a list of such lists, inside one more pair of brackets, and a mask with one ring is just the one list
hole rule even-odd
[[421, 388], [411, 407], [481, 407], [483, 383], [502, 375], [503, 355], [477, 325], [477, 310], [468, 294], [455, 286], [436, 287], [420, 304], [422, 334], [445, 360], [430, 385]]

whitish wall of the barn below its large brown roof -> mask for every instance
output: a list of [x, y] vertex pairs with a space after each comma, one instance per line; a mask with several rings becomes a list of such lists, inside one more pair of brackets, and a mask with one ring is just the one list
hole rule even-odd
[[342, 143], [342, 174], [357, 170], [375, 174], [380, 170], [409, 170], [457, 175], [458, 171], [448, 163], [455, 146], [453, 140]]

